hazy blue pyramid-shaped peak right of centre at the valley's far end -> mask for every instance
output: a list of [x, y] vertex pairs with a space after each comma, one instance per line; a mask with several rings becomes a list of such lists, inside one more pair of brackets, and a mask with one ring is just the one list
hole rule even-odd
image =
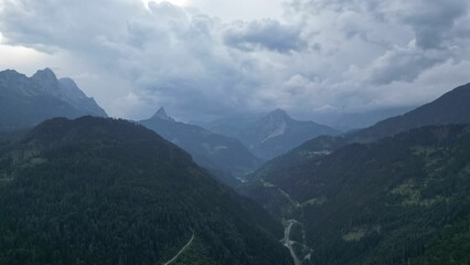
[[339, 131], [313, 121], [298, 121], [276, 109], [245, 128], [238, 138], [257, 156], [271, 159], [320, 135]]

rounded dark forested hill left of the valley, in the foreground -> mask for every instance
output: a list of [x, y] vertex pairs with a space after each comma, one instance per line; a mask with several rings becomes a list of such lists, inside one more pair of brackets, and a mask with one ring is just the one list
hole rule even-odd
[[0, 148], [1, 264], [163, 264], [186, 244], [191, 264], [291, 264], [279, 229], [140, 125], [55, 118]]

